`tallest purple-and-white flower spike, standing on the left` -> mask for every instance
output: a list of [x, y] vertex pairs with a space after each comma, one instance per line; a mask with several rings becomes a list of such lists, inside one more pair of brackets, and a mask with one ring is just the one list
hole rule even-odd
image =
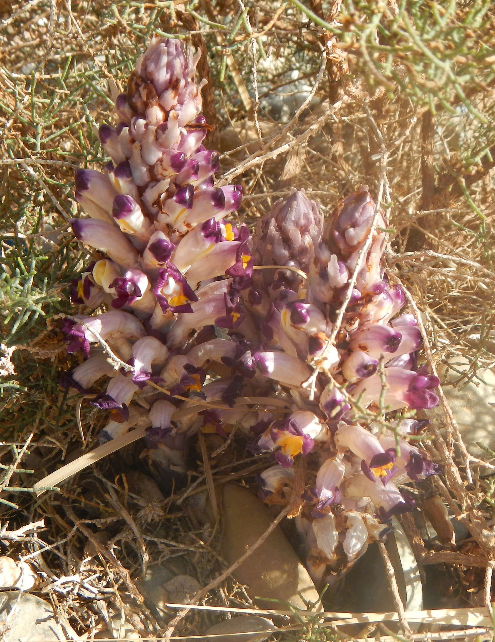
[[[159, 391], [153, 398], [148, 382], [164, 383], [163, 373], [182, 395], [201, 395], [205, 371], [195, 363], [202, 342], [195, 345], [194, 334], [216, 318], [227, 315], [233, 327], [244, 316], [237, 309], [241, 290], [250, 284], [250, 236], [224, 220], [239, 207], [242, 189], [215, 186], [220, 162], [202, 144], [211, 128], [201, 114], [199, 57], [179, 40], [155, 37], [139, 56], [126, 93], [117, 96], [116, 125], [100, 126], [109, 162], [102, 171], [76, 171], [76, 199], [90, 218], [74, 219], [74, 234], [105, 257], [74, 284], [72, 298], [89, 309], [105, 304], [107, 311], [64, 322], [68, 351], [89, 357], [64, 377], [64, 385], [87, 392], [107, 378], [94, 404], [109, 410], [119, 427], [107, 429], [105, 438], [131, 427], [140, 413], [150, 412], [157, 428], [158, 408], [170, 402]], [[205, 288], [222, 278], [220, 288]], [[132, 372], [118, 372], [100, 352], [94, 354], [100, 338]], [[224, 341], [228, 349], [217, 351], [218, 360], [232, 360], [232, 376], [238, 370], [252, 376], [252, 367], [240, 360], [247, 347], [239, 354], [239, 343]], [[194, 346], [196, 358], [189, 363], [184, 357], [178, 367], [177, 352]], [[210, 359], [211, 349], [204, 354], [207, 363], [218, 363]], [[146, 403], [135, 401], [139, 388], [146, 390]], [[175, 450], [183, 448], [170, 453]]]

